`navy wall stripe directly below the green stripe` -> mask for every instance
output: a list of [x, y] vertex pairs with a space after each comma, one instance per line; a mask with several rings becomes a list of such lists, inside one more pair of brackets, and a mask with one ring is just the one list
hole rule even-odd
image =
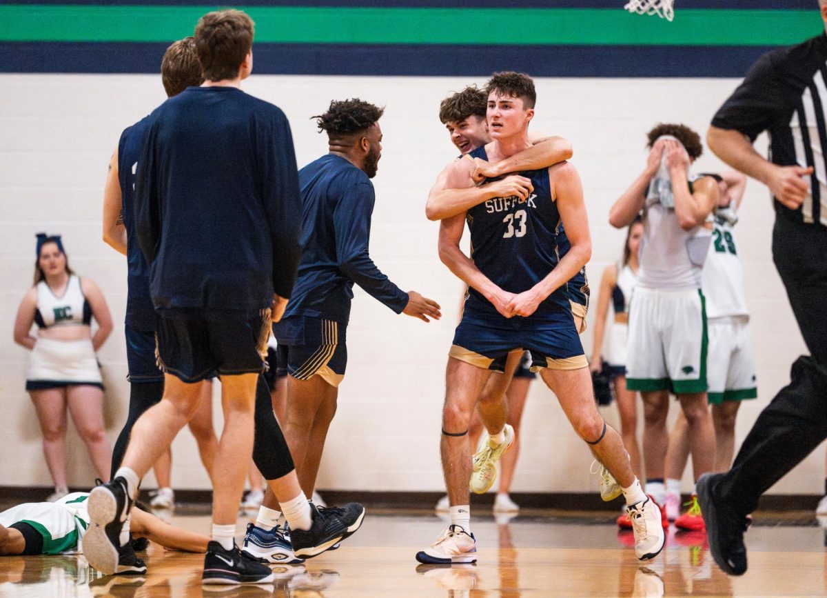
[[[158, 73], [167, 44], [2, 42], [4, 73]], [[258, 44], [265, 75], [742, 77], [763, 46]]]

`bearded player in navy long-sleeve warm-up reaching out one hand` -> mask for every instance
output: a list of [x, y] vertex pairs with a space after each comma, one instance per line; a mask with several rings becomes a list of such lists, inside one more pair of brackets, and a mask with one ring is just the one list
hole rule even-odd
[[382, 113], [361, 99], [332, 101], [313, 117], [327, 133], [329, 152], [299, 171], [303, 253], [293, 297], [273, 332], [280, 373], [289, 374], [284, 436], [308, 497], [347, 365], [354, 283], [395, 313], [425, 322], [441, 316], [436, 301], [399, 289], [368, 253]]

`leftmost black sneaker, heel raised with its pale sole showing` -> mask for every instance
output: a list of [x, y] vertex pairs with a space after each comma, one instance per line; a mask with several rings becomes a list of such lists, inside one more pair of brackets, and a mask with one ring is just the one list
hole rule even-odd
[[117, 571], [121, 528], [131, 506], [127, 480], [122, 477], [96, 486], [89, 493], [89, 528], [84, 535], [84, 557], [91, 567], [105, 575]]

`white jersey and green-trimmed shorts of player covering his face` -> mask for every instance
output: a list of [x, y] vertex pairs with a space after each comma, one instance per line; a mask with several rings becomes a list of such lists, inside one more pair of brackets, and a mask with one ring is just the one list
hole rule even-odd
[[629, 308], [629, 390], [706, 390], [705, 298], [700, 289], [710, 239], [703, 226], [681, 229], [674, 208], [649, 194], [638, 285]]

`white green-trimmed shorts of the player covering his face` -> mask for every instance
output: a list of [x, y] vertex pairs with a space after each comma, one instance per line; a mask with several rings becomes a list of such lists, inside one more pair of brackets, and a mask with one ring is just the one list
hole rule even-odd
[[635, 287], [629, 305], [626, 387], [706, 390], [706, 312], [700, 289]]

